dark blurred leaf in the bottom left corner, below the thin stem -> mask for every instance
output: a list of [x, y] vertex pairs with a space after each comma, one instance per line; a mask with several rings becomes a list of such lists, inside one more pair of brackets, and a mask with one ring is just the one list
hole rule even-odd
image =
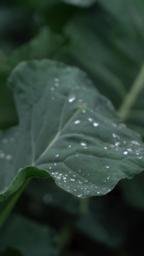
[[0, 230], [0, 252], [12, 248], [24, 256], [57, 256], [57, 243], [54, 230], [20, 215], [12, 216]]

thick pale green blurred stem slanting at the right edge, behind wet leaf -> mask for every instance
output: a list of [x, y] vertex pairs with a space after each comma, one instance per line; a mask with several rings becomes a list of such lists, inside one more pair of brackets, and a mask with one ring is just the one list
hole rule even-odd
[[142, 66], [138, 76], [136, 77], [131, 90], [128, 92], [124, 101], [122, 102], [120, 109], [118, 110], [119, 116], [123, 121], [126, 120], [136, 98], [140, 94], [144, 87], [144, 65]]

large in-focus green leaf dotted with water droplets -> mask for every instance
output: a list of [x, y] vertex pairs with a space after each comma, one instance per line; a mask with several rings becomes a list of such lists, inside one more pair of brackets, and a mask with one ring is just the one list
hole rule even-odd
[[105, 195], [144, 169], [141, 136], [120, 123], [84, 72], [56, 61], [27, 61], [8, 84], [19, 126], [0, 134], [0, 200], [28, 177], [49, 174], [79, 197]]

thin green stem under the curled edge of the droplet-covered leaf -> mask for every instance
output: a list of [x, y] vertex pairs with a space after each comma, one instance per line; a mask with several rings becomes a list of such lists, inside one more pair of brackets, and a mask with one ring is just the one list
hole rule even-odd
[[6, 219], [9, 217], [13, 207], [15, 206], [16, 202], [18, 201], [18, 199], [20, 198], [20, 196], [22, 195], [25, 187], [28, 185], [28, 183], [31, 181], [31, 178], [28, 179], [24, 185], [18, 190], [18, 192], [12, 197], [12, 200], [9, 202], [9, 204], [4, 208], [4, 210], [2, 211], [2, 213], [0, 214], [0, 228], [2, 227], [2, 225], [4, 224], [4, 222], [6, 221]]

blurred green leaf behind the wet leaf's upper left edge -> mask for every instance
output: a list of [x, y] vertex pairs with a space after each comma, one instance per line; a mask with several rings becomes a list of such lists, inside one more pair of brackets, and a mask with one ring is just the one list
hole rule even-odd
[[52, 34], [45, 27], [39, 35], [22, 47], [13, 51], [0, 69], [0, 128], [5, 129], [17, 123], [12, 91], [6, 87], [6, 80], [12, 69], [25, 60], [51, 58], [55, 51], [64, 44], [64, 38]]

